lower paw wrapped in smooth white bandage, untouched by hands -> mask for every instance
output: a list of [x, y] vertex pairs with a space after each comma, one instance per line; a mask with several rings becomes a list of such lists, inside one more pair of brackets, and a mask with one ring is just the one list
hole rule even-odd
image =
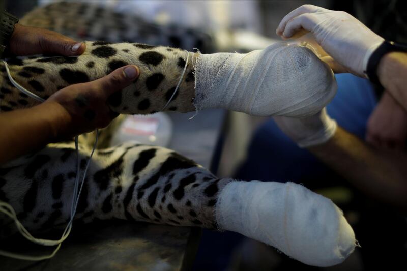
[[314, 266], [341, 263], [355, 248], [341, 210], [294, 183], [230, 182], [220, 192], [216, 221]]

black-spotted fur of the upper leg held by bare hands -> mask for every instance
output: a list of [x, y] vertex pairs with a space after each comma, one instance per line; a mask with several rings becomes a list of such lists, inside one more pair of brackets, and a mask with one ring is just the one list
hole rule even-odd
[[[196, 53], [189, 54], [186, 74], [166, 110], [194, 110], [195, 89], [191, 74]], [[161, 111], [169, 101], [181, 78], [186, 56], [186, 51], [164, 46], [146, 48], [138, 43], [86, 42], [86, 51], [78, 57], [14, 57], [7, 62], [13, 78], [44, 99], [68, 85], [95, 80], [128, 64], [137, 65], [141, 71], [139, 78], [110, 96], [108, 102], [114, 112], [149, 114]], [[13, 87], [4, 67], [0, 71], [3, 72], [0, 93], [4, 96], [0, 101], [1, 111], [37, 103]]]

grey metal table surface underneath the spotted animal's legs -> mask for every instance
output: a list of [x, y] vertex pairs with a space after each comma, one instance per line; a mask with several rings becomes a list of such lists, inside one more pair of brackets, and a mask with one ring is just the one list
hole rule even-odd
[[[169, 148], [209, 168], [225, 111], [202, 111], [188, 121], [191, 115], [169, 114], [174, 128]], [[193, 227], [100, 221], [73, 227], [52, 259], [31, 262], [0, 256], [0, 270], [188, 270], [200, 235], [201, 229]], [[19, 252], [50, 251], [24, 240], [11, 245]]]

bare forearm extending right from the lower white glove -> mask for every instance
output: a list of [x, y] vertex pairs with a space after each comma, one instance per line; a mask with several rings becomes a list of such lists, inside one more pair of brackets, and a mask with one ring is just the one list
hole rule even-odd
[[407, 213], [407, 155], [371, 148], [341, 128], [309, 150], [361, 191]]

